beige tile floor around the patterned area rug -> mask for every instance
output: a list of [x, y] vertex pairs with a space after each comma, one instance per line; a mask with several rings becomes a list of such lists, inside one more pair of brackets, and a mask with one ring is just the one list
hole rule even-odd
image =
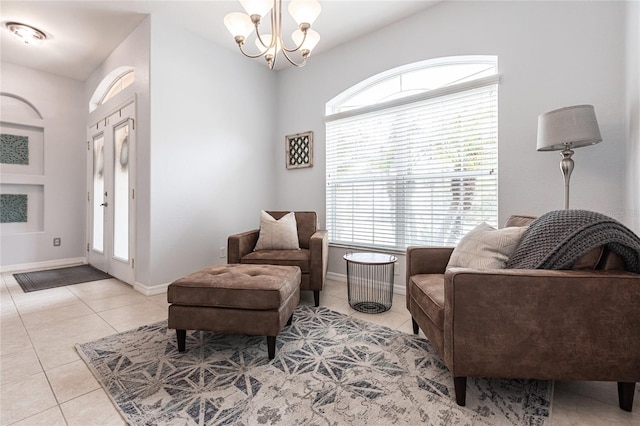
[[[166, 294], [145, 297], [115, 279], [23, 293], [12, 274], [0, 288], [0, 425], [125, 424], [84, 362], [75, 343], [164, 320]], [[310, 292], [303, 300], [312, 301]], [[321, 304], [338, 312], [411, 333], [404, 296], [383, 314], [349, 306], [346, 284], [329, 281]], [[640, 425], [617, 406], [615, 383], [556, 382], [553, 425]]]

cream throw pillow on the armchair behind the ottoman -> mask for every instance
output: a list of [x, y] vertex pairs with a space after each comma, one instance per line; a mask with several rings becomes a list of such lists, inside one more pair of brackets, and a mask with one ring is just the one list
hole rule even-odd
[[280, 219], [264, 210], [260, 212], [260, 235], [254, 251], [258, 250], [299, 250], [298, 227], [294, 212]]

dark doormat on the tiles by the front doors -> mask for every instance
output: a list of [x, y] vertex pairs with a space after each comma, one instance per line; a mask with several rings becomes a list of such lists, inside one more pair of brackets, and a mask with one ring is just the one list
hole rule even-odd
[[105, 280], [111, 275], [91, 265], [71, 266], [68, 268], [48, 269], [46, 271], [13, 274], [25, 293], [63, 287], [65, 285]]

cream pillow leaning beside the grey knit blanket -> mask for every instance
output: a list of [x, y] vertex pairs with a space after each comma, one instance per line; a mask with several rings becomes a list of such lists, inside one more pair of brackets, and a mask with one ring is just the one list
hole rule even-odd
[[526, 226], [495, 229], [481, 223], [462, 237], [447, 268], [502, 269], [526, 229]]

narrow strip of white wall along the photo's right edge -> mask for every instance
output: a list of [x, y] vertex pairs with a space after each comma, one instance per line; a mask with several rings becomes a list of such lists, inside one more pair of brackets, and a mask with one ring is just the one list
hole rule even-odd
[[627, 2], [627, 208], [628, 226], [640, 234], [640, 2]]

